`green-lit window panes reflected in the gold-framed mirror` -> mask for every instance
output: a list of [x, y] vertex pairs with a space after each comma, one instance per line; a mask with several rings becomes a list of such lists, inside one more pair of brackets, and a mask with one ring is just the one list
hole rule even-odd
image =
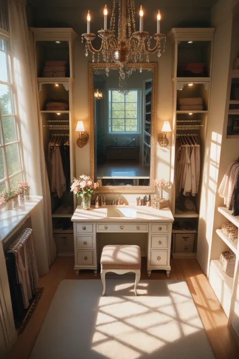
[[139, 90], [109, 90], [109, 133], [139, 133]]

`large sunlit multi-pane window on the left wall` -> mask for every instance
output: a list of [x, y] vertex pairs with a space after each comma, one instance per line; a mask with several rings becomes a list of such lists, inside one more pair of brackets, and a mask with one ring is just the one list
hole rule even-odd
[[23, 180], [9, 40], [0, 29], [0, 193]]

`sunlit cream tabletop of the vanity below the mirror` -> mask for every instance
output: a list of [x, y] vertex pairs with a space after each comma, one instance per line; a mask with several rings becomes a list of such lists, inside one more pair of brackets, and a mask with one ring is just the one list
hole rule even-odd
[[169, 208], [155, 210], [146, 206], [105, 206], [83, 210], [78, 206], [72, 222], [173, 222]]

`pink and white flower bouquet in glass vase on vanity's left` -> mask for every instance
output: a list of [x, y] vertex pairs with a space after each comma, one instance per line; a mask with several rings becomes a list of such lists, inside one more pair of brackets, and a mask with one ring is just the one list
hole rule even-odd
[[98, 182], [93, 182], [93, 180], [86, 175], [81, 175], [79, 179], [73, 178], [73, 183], [71, 184], [71, 192], [77, 195], [77, 197], [82, 195], [91, 196], [95, 193], [95, 189], [99, 187]]

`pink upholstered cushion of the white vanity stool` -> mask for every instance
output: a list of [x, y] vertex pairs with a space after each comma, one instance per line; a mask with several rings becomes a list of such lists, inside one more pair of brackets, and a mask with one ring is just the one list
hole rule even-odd
[[105, 245], [100, 264], [102, 269], [141, 269], [138, 245]]

